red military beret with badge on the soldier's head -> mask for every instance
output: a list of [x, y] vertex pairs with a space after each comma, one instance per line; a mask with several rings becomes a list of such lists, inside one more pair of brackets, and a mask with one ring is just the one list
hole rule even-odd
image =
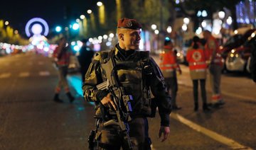
[[135, 19], [121, 18], [117, 22], [117, 28], [129, 28], [139, 30], [142, 28], [142, 25]]

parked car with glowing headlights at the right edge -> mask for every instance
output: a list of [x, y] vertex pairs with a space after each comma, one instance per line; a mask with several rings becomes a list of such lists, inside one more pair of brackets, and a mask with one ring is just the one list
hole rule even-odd
[[240, 47], [231, 50], [225, 60], [225, 66], [228, 71], [247, 71], [250, 72], [250, 56], [252, 48], [256, 45], [256, 31], [247, 38]]

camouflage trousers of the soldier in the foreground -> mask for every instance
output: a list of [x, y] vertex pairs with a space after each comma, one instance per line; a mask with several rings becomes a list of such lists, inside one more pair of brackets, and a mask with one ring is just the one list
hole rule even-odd
[[[149, 125], [146, 117], [137, 117], [129, 122], [129, 137], [132, 149], [148, 150], [151, 149], [151, 139], [149, 138]], [[124, 139], [122, 130], [117, 125], [110, 127], [100, 127], [95, 136], [95, 149], [129, 149], [127, 141]]]

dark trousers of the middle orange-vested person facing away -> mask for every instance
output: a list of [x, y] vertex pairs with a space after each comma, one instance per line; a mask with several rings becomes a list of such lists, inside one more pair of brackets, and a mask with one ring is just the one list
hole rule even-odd
[[193, 99], [194, 103], [198, 103], [198, 82], [200, 81], [201, 96], [203, 103], [206, 103], [206, 79], [193, 80]]

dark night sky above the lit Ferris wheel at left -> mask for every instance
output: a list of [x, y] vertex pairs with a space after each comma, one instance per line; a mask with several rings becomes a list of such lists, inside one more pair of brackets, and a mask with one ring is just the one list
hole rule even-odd
[[49, 25], [50, 30], [55, 25], [65, 24], [65, 10], [70, 10], [70, 18], [79, 18], [85, 14], [87, 9], [97, 7], [95, 0], [44, 0], [44, 1], [11, 1], [3, 0], [0, 2], [0, 19], [9, 21], [9, 25], [21, 35], [25, 35], [26, 23], [34, 17], [43, 18]]

